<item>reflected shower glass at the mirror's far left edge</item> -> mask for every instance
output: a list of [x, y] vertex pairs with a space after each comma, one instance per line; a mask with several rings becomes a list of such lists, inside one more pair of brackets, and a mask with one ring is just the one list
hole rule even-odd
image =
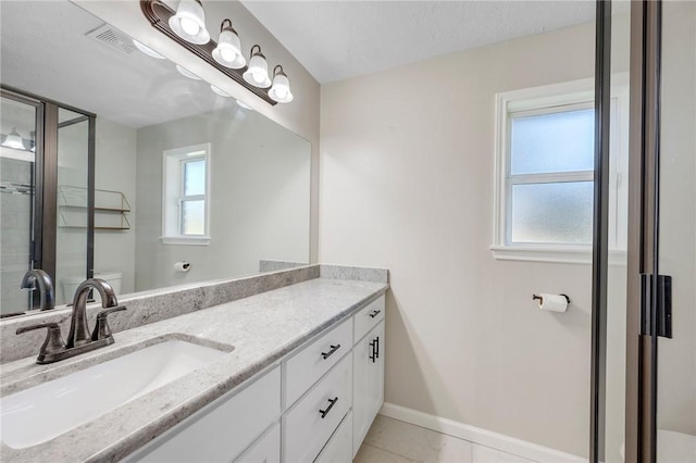
[[[0, 103], [0, 314], [38, 303], [35, 291], [20, 289], [32, 268], [35, 210], [35, 157], [38, 105], [10, 96]], [[35, 301], [36, 300], [36, 301]]]

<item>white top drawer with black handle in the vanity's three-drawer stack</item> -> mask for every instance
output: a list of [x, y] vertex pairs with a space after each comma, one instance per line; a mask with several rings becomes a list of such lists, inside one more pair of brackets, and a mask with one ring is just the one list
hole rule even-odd
[[338, 363], [352, 343], [352, 321], [348, 318], [285, 362], [285, 406], [295, 403]]

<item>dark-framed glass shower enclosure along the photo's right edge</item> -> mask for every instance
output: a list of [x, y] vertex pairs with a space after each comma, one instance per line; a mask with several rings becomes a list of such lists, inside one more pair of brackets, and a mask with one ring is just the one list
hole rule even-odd
[[[696, 3], [600, 1], [597, 17], [591, 460], [695, 462]], [[609, 154], [622, 130], [625, 173]]]

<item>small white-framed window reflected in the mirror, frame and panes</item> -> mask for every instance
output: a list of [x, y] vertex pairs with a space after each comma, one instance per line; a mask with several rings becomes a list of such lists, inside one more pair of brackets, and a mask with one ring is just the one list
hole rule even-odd
[[164, 151], [162, 242], [208, 245], [210, 143]]

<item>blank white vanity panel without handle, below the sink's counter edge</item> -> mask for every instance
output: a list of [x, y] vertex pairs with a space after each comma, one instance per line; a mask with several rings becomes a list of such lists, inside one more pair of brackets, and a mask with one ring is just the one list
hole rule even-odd
[[156, 439], [127, 461], [233, 461], [281, 415], [276, 367], [239, 392], [228, 392]]

